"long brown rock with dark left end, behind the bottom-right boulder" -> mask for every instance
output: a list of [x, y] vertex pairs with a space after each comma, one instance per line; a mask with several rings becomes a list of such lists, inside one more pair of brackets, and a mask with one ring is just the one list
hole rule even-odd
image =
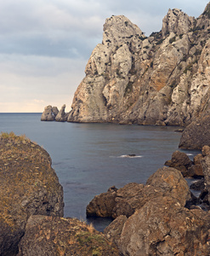
[[181, 172], [163, 167], [151, 175], [145, 185], [128, 183], [122, 189], [109, 189], [96, 195], [88, 204], [87, 216], [129, 217], [152, 198], [167, 195], [175, 198], [183, 207], [187, 201], [191, 201], [190, 189]]

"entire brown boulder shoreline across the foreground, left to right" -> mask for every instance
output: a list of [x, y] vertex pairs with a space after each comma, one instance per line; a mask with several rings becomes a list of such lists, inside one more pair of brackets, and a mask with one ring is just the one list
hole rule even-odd
[[[210, 254], [210, 147], [190, 160], [176, 151], [145, 184], [128, 183], [96, 195], [87, 216], [114, 220], [104, 234], [63, 218], [63, 189], [48, 153], [26, 137], [0, 137], [0, 254]], [[184, 177], [202, 177], [194, 189]]]

